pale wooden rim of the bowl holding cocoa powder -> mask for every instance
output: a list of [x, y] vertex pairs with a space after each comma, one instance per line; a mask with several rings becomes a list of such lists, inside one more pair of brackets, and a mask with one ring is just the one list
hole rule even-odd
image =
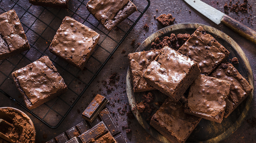
[[[16, 109], [16, 108], [12, 108], [12, 107], [0, 107], [0, 109], [7, 109], [7, 108], [11, 108], [11, 109], [14, 109], [16, 113], [18, 113], [19, 115], [21, 115], [23, 118], [27, 119], [29, 124], [32, 126], [33, 128], [33, 132], [34, 132], [34, 138], [35, 138], [35, 126], [32, 122], [32, 120], [29, 118], [29, 116], [27, 114], [25, 114], [24, 112], [22, 112], [21, 110], [19, 109]], [[7, 116], [5, 115], [4, 113], [1, 113], [0, 112], [0, 119], [4, 119], [8, 122], [12, 122], [12, 120]]]

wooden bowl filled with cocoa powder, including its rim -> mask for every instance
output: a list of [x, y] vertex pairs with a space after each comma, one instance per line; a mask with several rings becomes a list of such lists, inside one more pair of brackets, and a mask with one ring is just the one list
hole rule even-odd
[[0, 119], [13, 125], [13, 127], [1, 125], [0, 132], [15, 143], [35, 143], [34, 124], [24, 112], [12, 107], [1, 107]]

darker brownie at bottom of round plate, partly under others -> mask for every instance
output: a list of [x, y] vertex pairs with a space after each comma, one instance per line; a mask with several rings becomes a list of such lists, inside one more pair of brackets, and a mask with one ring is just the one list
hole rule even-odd
[[150, 125], [172, 143], [184, 143], [201, 118], [184, 113], [184, 105], [166, 99], [153, 115]]

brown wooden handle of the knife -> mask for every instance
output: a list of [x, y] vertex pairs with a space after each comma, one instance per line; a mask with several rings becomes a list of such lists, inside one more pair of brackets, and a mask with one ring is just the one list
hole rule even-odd
[[244, 24], [234, 20], [233, 18], [224, 15], [221, 22], [240, 34], [241, 36], [245, 37], [246, 39], [252, 41], [256, 44], [256, 32], [249, 27], [245, 26]]

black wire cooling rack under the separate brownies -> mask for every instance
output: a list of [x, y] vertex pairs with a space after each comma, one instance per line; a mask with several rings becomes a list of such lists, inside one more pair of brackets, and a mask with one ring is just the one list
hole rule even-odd
[[[53, 129], [57, 128], [67, 117], [150, 5], [150, 0], [131, 0], [138, 11], [125, 19], [114, 30], [107, 31], [86, 9], [88, 1], [70, 0], [69, 8], [62, 9], [34, 6], [28, 0], [0, 0], [0, 13], [11, 9], [16, 11], [31, 47], [29, 51], [0, 61], [0, 92]], [[95, 51], [82, 71], [54, 56], [48, 50], [65, 16], [74, 18], [100, 34]], [[29, 110], [14, 84], [11, 73], [45, 55], [49, 56], [63, 77], [68, 91], [33, 110]]]

